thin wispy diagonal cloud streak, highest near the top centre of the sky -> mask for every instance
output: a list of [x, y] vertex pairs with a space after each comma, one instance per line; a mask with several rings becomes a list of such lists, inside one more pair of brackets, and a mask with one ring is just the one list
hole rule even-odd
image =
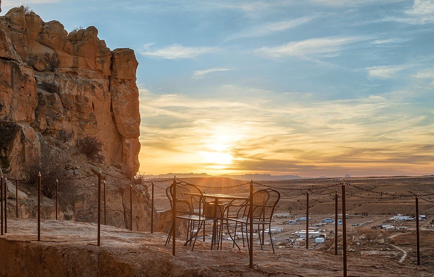
[[304, 16], [299, 17], [291, 20], [283, 20], [283, 21], [277, 21], [277, 22], [267, 22], [261, 25], [253, 26], [249, 29], [243, 30], [239, 33], [231, 35], [226, 41], [235, 39], [235, 38], [242, 38], [242, 37], [252, 37], [252, 36], [265, 36], [276, 32], [282, 32], [286, 31], [292, 28], [295, 28], [297, 26], [309, 23], [314, 18], [317, 18], [317, 15], [314, 16]]

